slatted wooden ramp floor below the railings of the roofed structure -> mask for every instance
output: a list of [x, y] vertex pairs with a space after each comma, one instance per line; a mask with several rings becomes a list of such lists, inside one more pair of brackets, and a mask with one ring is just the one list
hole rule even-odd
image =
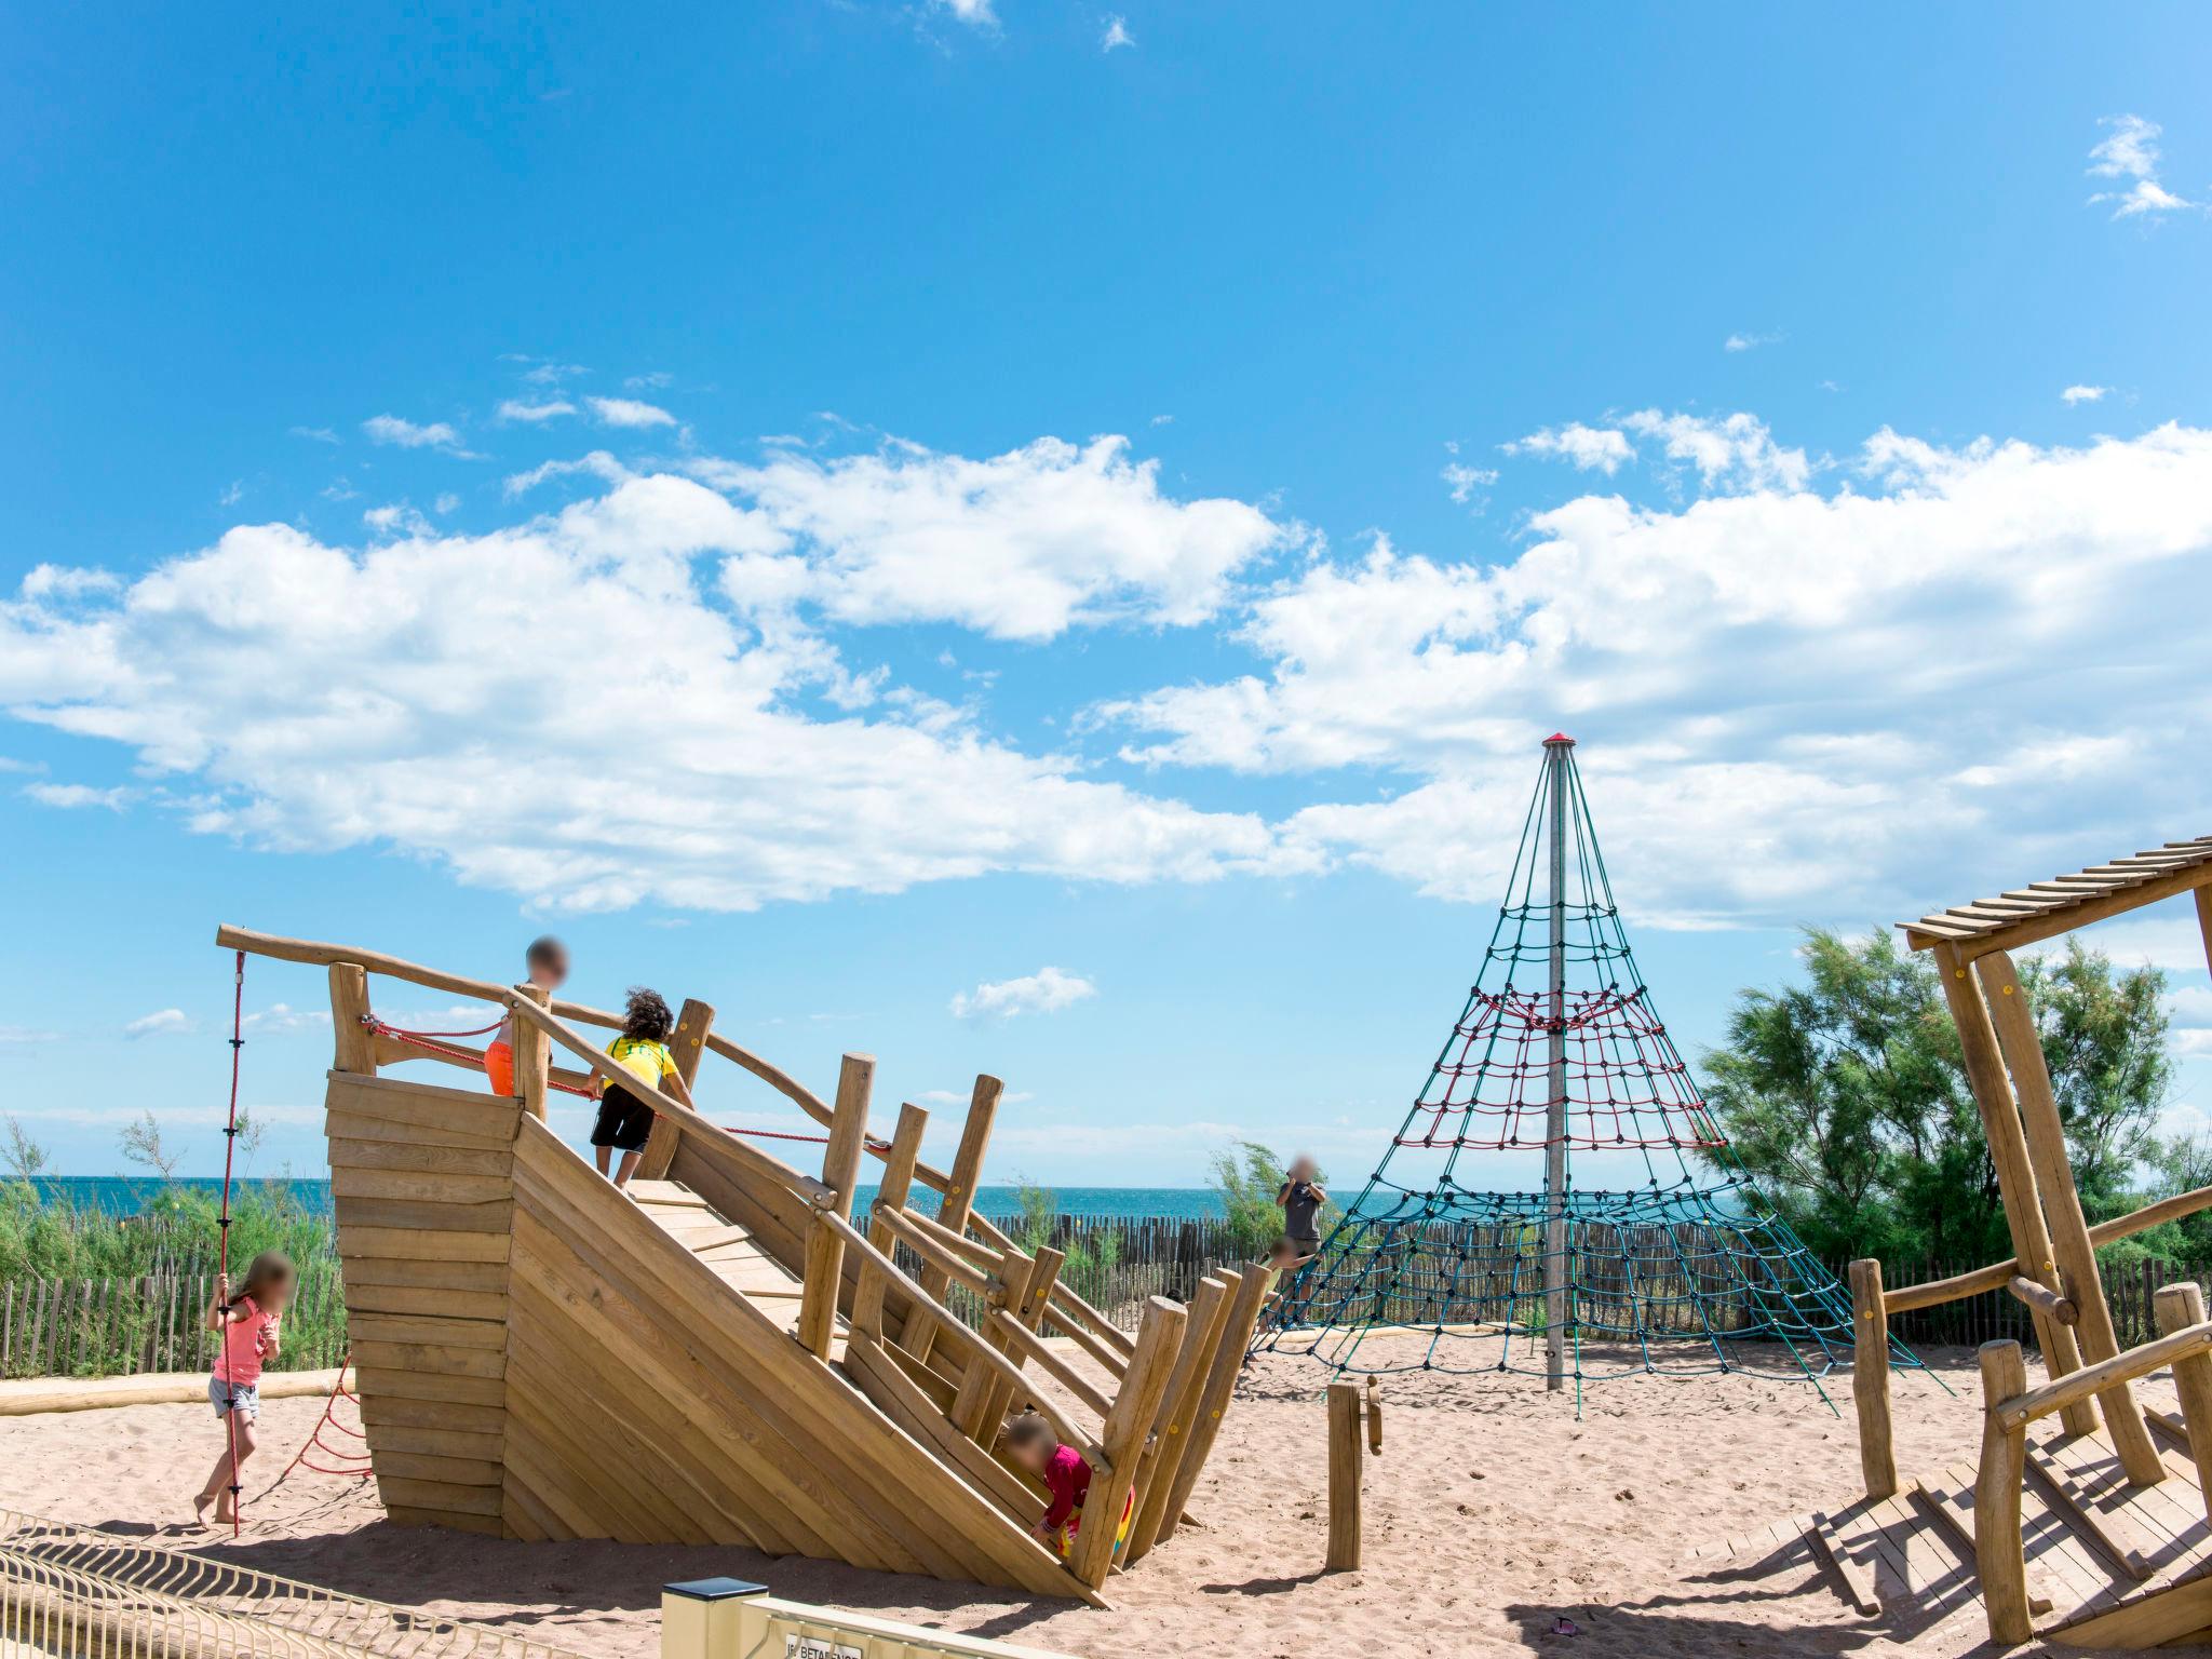
[[[2028, 1440], [2020, 1533], [2035, 1635], [2066, 1648], [2212, 1641], [2212, 1526], [2188, 1444], [2146, 1413], [2166, 1480], [2130, 1486], [2104, 1433]], [[2053, 1425], [2055, 1427], [2055, 1425]], [[1955, 1621], [1964, 1652], [1986, 1635], [1973, 1544], [1971, 1464], [1953, 1464], [1880, 1502], [1798, 1515], [1701, 1551], [1750, 1559], [1801, 1546], [1863, 1617], [1918, 1635]]]

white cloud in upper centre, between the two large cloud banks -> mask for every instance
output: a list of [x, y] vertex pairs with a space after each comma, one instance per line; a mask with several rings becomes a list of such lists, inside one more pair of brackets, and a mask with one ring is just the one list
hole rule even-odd
[[1159, 462], [1126, 438], [1057, 438], [989, 460], [891, 445], [757, 467], [701, 462], [748, 498], [792, 551], [737, 560], [723, 586], [752, 613], [814, 604], [847, 624], [956, 622], [1000, 639], [1051, 639], [1082, 622], [1190, 626], [1230, 577], [1292, 531], [1239, 500], [1177, 502]]

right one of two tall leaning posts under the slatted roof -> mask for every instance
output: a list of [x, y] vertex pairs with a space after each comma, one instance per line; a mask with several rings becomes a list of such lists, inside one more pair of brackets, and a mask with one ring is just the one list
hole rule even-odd
[[[2044, 1044], [2035, 1031], [2035, 1015], [2028, 1011], [2028, 995], [2020, 989], [2013, 958], [2004, 951], [1991, 951], [1973, 967], [1982, 980], [1991, 1026], [1997, 1033], [1997, 1051], [2013, 1073], [2013, 1088], [2020, 1097], [2020, 1121], [2026, 1128], [2028, 1161], [2035, 1168], [2035, 1190], [2044, 1201], [2051, 1250], [2064, 1283], [2062, 1294], [2079, 1310], [2081, 1358], [2095, 1365], [2119, 1354], [2119, 1332], [2112, 1329], [2112, 1305], [2097, 1276], [2097, 1250], [2088, 1241], [2081, 1194], [2075, 1190], [2073, 1166], [2066, 1159], [2066, 1128], [2059, 1124], [2059, 1104], [2051, 1093]], [[2042, 1274], [2031, 1276], [2042, 1279]], [[2044, 1283], [2048, 1285], [2048, 1279]], [[2051, 1325], [2064, 1329], [2055, 1321]], [[2159, 1460], [2159, 1449], [2150, 1444], [2150, 1429], [2143, 1425], [2143, 1413], [2135, 1407], [2128, 1385], [2112, 1385], [2097, 1396], [2097, 1402], [2104, 1407], [2104, 1425], [2128, 1480], [2137, 1486], [2166, 1480], [2166, 1464]]]

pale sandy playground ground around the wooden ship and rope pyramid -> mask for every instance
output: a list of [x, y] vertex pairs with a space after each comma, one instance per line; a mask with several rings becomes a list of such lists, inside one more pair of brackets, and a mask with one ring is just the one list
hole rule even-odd
[[[1380, 1338], [1376, 1338], [1380, 1340]], [[1898, 1464], [1971, 1460], [1978, 1387], [1962, 1354], [1896, 1380]], [[387, 1601], [482, 1619], [582, 1655], [657, 1652], [659, 1586], [730, 1573], [776, 1595], [947, 1626], [1086, 1659], [1237, 1652], [1360, 1655], [1958, 1655], [1978, 1615], [1947, 1626], [1858, 1617], [1803, 1548], [1708, 1564], [1699, 1546], [1770, 1520], [1847, 1506], [1858, 1491], [1849, 1378], [1843, 1416], [1803, 1383], [1630, 1378], [1571, 1396], [1502, 1376], [1385, 1380], [1385, 1451], [1367, 1473], [1367, 1566], [1323, 1575], [1325, 1374], [1261, 1356], [1192, 1502], [1201, 1520], [1108, 1584], [1108, 1613], [1000, 1590], [863, 1573], [743, 1548], [509, 1544], [389, 1526], [358, 1482], [294, 1473], [314, 1400], [263, 1411], [239, 1542], [210, 1555]], [[0, 1502], [119, 1533], [190, 1515], [219, 1449], [206, 1407], [119, 1407], [0, 1420]], [[1551, 1635], [1566, 1617], [1579, 1635]]]

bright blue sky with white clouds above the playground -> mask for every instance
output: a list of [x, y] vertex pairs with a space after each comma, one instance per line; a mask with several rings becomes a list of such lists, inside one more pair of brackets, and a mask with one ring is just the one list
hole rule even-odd
[[[219, 920], [557, 927], [823, 1088], [998, 1071], [993, 1175], [1194, 1183], [1371, 1166], [1557, 726], [1692, 1055], [1803, 922], [2212, 827], [2201, 9], [9, 35], [0, 1077], [64, 1170], [142, 1108], [215, 1168]], [[2192, 922], [2104, 942], [2199, 1124]], [[319, 1002], [248, 971], [265, 1166]]]

